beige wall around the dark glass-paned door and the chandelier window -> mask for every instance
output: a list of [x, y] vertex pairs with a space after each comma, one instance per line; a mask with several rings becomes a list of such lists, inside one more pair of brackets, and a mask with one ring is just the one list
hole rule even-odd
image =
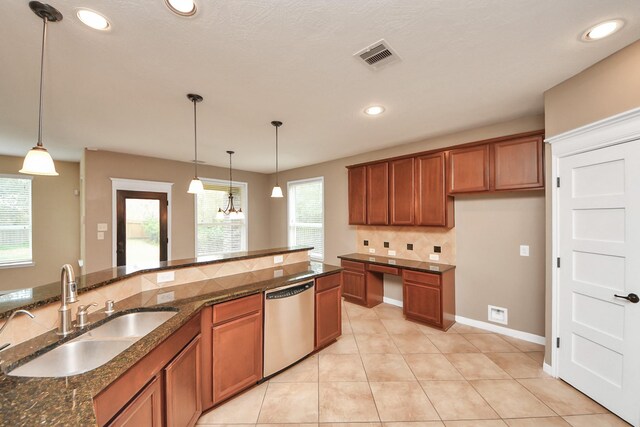
[[[173, 183], [171, 206], [171, 258], [192, 258], [195, 254], [195, 213], [193, 195], [187, 193], [193, 177], [190, 163], [109, 151], [84, 153], [85, 273], [110, 268], [112, 264], [111, 178]], [[201, 178], [229, 179], [229, 170], [199, 166]], [[249, 250], [272, 246], [269, 232], [268, 177], [254, 172], [235, 171], [234, 181], [248, 183]], [[109, 224], [104, 240], [97, 239], [97, 224]]]

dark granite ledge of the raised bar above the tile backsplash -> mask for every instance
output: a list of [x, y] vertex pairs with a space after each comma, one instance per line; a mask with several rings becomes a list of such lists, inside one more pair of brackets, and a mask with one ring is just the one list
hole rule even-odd
[[[177, 268], [194, 267], [198, 265], [215, 264], [228, 261], [239, 261], [243, 259], [259, 258], [269, 255], [281, 255], [291, 252], [302, 252], [313, 249], [309, 246], [289, 246], [273, 249], [262, 249], [257, 251], [233, 252], [222, 255], [211, 255], [198, 258], [185, 258], [173, 261], [163, 261], [148, 264], [144, 267], [116, 267], [95, 273], [76, 276], [78, 294], [92, 289], [106, 286], [119, 280], [133, 277], [139, 274], [150, 273], [162, 270], [174, 270]], [[52, 302], [60, 301], [60, 282], [53, 282], [47, 285], [33, 288], [21, 289], [6, 293], [0, 296], [0, 320], [7, 318], [16, 310], [31, 310]]]

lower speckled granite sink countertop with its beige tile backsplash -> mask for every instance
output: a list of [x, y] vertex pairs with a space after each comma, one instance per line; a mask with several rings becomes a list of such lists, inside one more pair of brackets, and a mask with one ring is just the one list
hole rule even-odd
[[[341, 270], [340, 267], [310, 261], [133, 295], [119, 301], [116, 313], [110, 317], [151, 309], [176, 310], [177, 314], [111, 361], [80, 375], [63, 378], [5, 375], [12, 368], [76, 338], [79, 332], [60, 338], [55, 331], [49, 331], [10, 347], [0, 352], [0, 426], [96, 425], [93, 398], [188, 320], [197, 316], [203, 307]], [[157, 303], [160, 295], [166, 301], [170, 292], [173, 292], [172, 302]], [[90, 328], [97, 327], [106, 321], [106, 316], [96, 312], [89, 316], [89, 320], [92, 322]]]

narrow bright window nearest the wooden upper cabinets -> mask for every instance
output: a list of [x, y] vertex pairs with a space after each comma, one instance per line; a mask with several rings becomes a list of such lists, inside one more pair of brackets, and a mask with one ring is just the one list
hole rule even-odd
[[310, 256], [324, 259], [324, 182], [322, 178], [291, 181], [289, 198], [289, 245], [313, 246]]

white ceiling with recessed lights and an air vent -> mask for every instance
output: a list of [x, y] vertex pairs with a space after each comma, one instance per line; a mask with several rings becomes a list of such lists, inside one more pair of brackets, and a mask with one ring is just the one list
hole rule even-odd
[[[48, 0], [44, 143], [190, 161], [189, 92], [199, 157], [272, 172], [541, 113], [543, 92], [640, 38], [637, 0], [198, 0], [191, 18], [164, 0]], [[81, 24], [101, 12], [112, 30]], [[608, 18], [623, 30], [579, 41]], [[0, 2], [0, 152], [37, 134], [42, 23], [25, 0]], [[381, 38], [402, 61], [373, 72], [352, 55]], [[379, 103], [382, 116], [363, 114]]]

